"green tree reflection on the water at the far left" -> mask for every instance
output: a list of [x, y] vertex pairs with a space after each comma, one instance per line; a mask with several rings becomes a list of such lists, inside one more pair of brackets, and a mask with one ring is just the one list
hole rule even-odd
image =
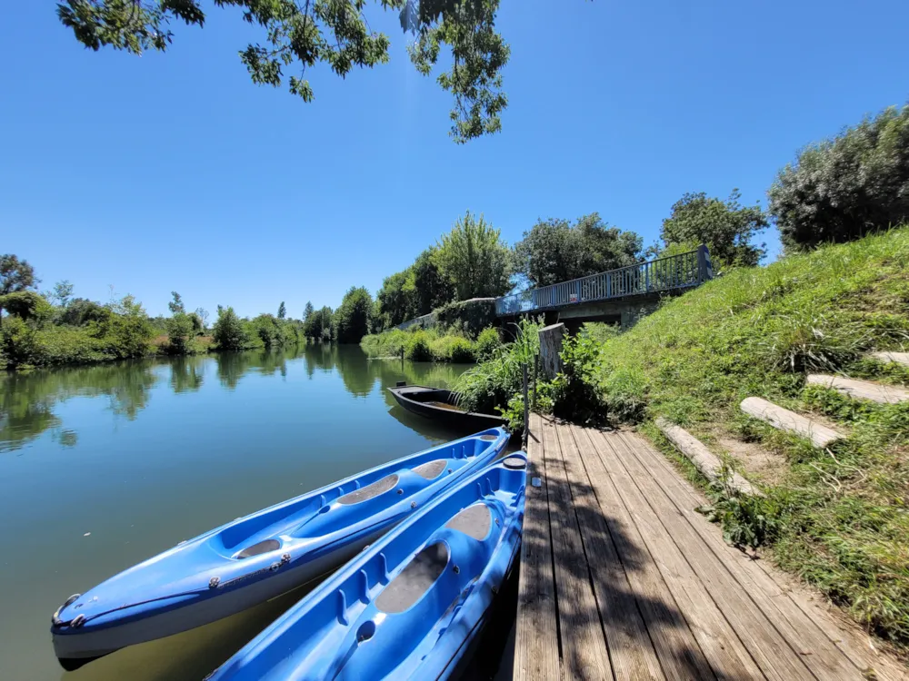
[[117, 416], [135, 419], [158, 380], [154, 365], [140, 360], [5, 374], [0, 377], [0, 452], [21, 449], [47, 430], [61, 445], [75, 445], [75, 429], [61, 429], [55, 413], [74, 397], [104, 396]]

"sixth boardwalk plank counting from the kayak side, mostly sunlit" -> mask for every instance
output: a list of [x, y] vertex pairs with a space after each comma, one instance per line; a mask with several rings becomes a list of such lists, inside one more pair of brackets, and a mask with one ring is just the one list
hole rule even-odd
[[675, 546], [684, 553], [697, 578], [708, 586], [709, 597], [734, 632], [732, 636], [741, 642], [746, 654], [760, 666], [764, 676], [780, 681], [810, 676], [800, 656], [761, 609], [754, 605], [752, 598], [724, 568], [722, 561], [704, 544], [688, 519], [679, 513], [664, 488], [635, 456], [628, 440], [618, 436], [612, 444], [616, 450], [621, 447], [621, 463], [646, 499], [645, 503], [660, 519]]

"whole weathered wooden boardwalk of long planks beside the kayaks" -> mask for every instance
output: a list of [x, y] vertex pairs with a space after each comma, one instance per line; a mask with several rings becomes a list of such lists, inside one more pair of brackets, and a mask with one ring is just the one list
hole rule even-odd
[[907, 678], [727, 546], [640, 436], [532, 415], [528, 441], [515, 679]]

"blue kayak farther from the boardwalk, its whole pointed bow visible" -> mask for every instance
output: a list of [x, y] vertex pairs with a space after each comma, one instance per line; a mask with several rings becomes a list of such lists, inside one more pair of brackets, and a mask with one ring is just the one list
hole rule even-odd
[[53, 617], [56, 656], [75, 669], [321, 577], [494, 460], [508, 437], [501, 428], [484, 430], [181, 542], [70, 597]]

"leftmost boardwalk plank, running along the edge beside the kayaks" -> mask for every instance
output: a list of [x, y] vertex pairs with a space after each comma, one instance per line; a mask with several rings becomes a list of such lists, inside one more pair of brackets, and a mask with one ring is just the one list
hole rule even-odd
[[[550, 681], [559, 677], [552, 539], [542, 419], [532, 414], [530, 424], [513, 676], [522, 681]], [[539, 487], [534, 487], [534, 479], [539, 479]]]

